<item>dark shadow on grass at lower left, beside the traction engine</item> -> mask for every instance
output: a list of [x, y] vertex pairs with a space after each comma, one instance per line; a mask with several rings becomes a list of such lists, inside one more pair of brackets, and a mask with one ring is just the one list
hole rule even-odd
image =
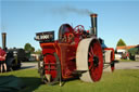
[[18, 92], [34, 92], [34, 90], [38, 89], [41, 84], [40, 78], [37, 77], [18, 77], [25, 83], [25, 88], [23, 88]]

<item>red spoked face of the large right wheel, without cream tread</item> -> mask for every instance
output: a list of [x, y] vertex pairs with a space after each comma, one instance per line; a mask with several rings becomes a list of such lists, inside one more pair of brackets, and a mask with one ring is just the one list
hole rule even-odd
[[102, 49], [99, 41], [93, 40], [88, 50], [88, 68], [91, 79], [96, 82], [101, 79], [103, 70]]

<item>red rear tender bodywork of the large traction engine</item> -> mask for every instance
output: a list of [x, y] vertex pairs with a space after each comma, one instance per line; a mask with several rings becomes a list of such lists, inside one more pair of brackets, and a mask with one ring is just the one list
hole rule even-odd
[[[42, 54], [46, 54], [46, 53], [53, 54], [54, 52], [56, 52], [61, 61], [62, 78], [63, 79], [71, 78], [72, 71], [76, 69], [76, 64], [75, 64], [76, 44], [59, 43], [55, 41], [51, 43], [40, 43], [40, 45], [42, 48]], [[43, 61], [45, 61], [46, 69], [49, 67], [47, 65], [48, 63], [52, 63], [52, 64], [56, 63], [54, 56], [52, 55], [45, 56]], [[51, 66], [51, 70], [45, 70], [45, 73], [51, 74], [52, 78], [55, 78], [56, 70], [54, 70], [53, 68], [56, 68], [56, 67]]]

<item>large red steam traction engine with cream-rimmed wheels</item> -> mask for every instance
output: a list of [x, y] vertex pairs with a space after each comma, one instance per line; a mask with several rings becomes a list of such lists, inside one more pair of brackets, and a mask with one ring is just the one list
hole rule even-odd
[[55, 41], [54, 31], [36, 34], [43, 54], [43, 62], [38, 63], [42, 82], [53, 84], [75, 77], [96, 82], [101, 79], [104, 67], [114, 70], [114, 50], [97, 38], [97, 14], [90, 16], [90, 31], [81, 25], [73, 28], [63, 24]]

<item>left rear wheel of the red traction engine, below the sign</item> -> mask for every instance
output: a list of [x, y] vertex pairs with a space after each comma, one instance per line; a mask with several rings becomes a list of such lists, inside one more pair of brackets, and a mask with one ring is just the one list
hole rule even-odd
[[61, 78], [61, 65], [56, 55], [47, 53], [45, 55], [43, 67], [39, 68], [41, 81], [47, 84], [58, 83]]

